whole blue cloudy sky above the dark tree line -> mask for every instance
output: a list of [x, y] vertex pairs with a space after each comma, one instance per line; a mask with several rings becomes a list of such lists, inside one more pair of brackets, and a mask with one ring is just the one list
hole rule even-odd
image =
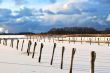
[[0, 33], [110, 28], [110, 0], [0, 0]]

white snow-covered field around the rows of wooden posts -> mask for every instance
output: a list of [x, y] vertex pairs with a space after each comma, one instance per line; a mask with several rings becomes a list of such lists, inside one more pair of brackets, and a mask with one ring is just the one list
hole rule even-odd
[[[76, 48], [76, 53], [73, 60], [73, 73], [90, 73], [90, 52], [96, 52], [96, 61], [95, 61], [95, 73], [110, 73], [110, 46], [108, 43], [92, 43], [89, 42], [68, 42], [68, 41], [57, 41], [58, 38], [55, 38], [50, 41], [48, 38], [42, 40], [31, 39], [31, 52], [33, 52], [34, 43], [37, 42], [35, 56], [32, 59], [32, 54], [27, 56], [27, 47], [28, 41], [27, 37], [24, 35], [1, 35], [0, 38], [25, 38], [19, 39], [19, 49], [16, 49], [17, 40], [14, 40], [14, 47], [10, 47], [10, 39], [7, 41], [8, 45], [3, 45], [3, 40], [0, 44], [0, 73], [69, 73], [70, 63], [71, 63], [71, 53], [72, 48]], [[92, 41], [98, 41], [98, 37], [82, 37], [83, 41], [89, 41], [90, 38]], [[101, 37], [100, 41], [108, 42], [107, 38]], [[59, 38], [62, 39], [62, 38]], [[69, 38], [63, 38], [63, 40], [68, 40]], [[73, 38], [71, 37], [70, 40]], [[81, 40], [81, 37], [75, 38], [77, 41]], [[21, 51], [22, 41], [24, 40], [23, 51]], [[45, 42], [44, 42], [45, 41]], [[44, 44], [42, 49], [41, 62], [38, 62], [40, 45]], [[57, 44], [54, 54], [53, 65], [50, 65], [52, 51], [54, 43]], [[64, 52], [64, 66], [63, 69], [60, 69], [61, 64], [61, 51], [62, 46], [65, 47]]]

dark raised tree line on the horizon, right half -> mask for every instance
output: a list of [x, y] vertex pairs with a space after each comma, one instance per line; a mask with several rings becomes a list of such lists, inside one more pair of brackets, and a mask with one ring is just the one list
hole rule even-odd
[[96, 30], [92, 27], [63, 27], [52, 28], [48, 34], [110, 34], [110, 28], [105, 30]]

